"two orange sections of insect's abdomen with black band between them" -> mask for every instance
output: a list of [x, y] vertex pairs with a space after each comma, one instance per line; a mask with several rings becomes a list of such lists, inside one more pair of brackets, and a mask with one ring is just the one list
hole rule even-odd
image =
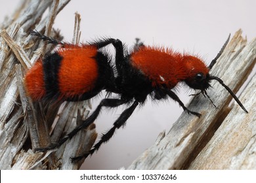
[[28, 95], [37, 101], [43, 97], [79, 99], [85, 93], [96, 93], [97, 53], [95, 46], [61, 49], [37, 61], [25, 76]]

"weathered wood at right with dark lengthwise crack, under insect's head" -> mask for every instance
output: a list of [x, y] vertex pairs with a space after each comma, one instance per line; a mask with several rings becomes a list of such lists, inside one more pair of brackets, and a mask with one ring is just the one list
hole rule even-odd
[[[234, 92], [256, 61], [256, 39], [247, 44], [241, 35], [236, 32], [211, 73]], [[249, 114], [236, 103], [228, 107], [230, 94], [217, 82], [212, 86], [207, 93], [217, 108], [202, 95], [194, 97], [188, 108], [202, 117], [183, 112], [128, 169], [256, 169], [255, 76], [240, 97]]]

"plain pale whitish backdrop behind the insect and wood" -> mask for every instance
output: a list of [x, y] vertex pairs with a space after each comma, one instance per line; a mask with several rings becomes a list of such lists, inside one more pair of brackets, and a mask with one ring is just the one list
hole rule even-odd
[[[4, 15], [12, 13], [17, 2], [0, 0], [0, 5], [5, 5], [0, 11], [1, 22]], [[256, 37], [255, 8], [256, 1], [253, 0], [74, 0], [58, 14], [54, 28], [61, 30], [66, 41], [71, 41], [74, 13], [79, 12], [82, 18], [81, 41], [107, 36], [120, 39], [130, 48], [135, 37], [140, 37], [145, 44], [199, 54], [209, 63], [229, 33], [234, 35], [242, 28], [248, 41]], [[182, 88], [179, 91], [181, 100], [187, 103], [188, 94], [193, 91]], [[102, 97], [104, 95], [93, 99], [93, 105], [96, 106]], [[112, 126], [122, 109], [104, 110], [100, 114], [96, 120], [99, 134]], [[161, 131], [171, 128], [181, 112], [182, 108], [171, 100], [158, 104], [148, 101], [144, 107], [135, 110], [125, 129], [119, 129], [97, 154], [85, 160], [82, 169], [127, 167], [154, 143]]]

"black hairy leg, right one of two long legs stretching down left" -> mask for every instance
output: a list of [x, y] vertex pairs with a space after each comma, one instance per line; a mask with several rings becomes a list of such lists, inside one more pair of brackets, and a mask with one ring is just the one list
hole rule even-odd
[[131, 105], [131, 107], [126, 108], [119, 116], [119, 118], [117, 118], [116, 122], [114, 122], [113, 127], [105, 134], [102, 135], [102, 137], [100, 138], [100, 141], [98, 141], [95, 146], [93, 146], [93, 148], [83, 154], [82, 156], [77, 156], [77, 157], [73, 157], [72, 161], [77, 161], [81, 158], [87, 158], [89, 155], [92, 155], [96, 150], [98, 150], [101, 146], [102, 143], [104, 142], [108, 142], [111, 137], [114, 135], [116, 129], [119, 129], [119, 127], [125, 125], [125, 122], [128, 120], [128, 118], [131, 116], [131, 114], [133, 114], [135, 108], [139, 105], [138, 101], [135, 101], [133, 103], [133, 105]]

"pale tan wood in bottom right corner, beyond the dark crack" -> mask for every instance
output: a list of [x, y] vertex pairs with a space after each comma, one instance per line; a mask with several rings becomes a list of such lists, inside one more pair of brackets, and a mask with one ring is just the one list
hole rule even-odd
[[241, 95], [249, 114], [230, 111], [189, 169], [256, 169], [256, 75]]

